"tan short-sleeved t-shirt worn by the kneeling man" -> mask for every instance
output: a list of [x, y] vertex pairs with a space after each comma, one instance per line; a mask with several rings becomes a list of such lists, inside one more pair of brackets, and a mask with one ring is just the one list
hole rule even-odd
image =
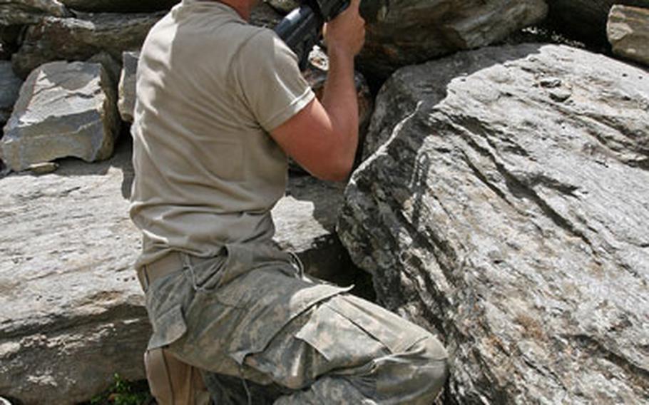
[[268, 132], [315, 97], [295, 54], [225, 4], [183, 0], [143, 45], [137, 93], [137, 266], [170, 250], [209, 257], [270, 240], [287, 157]]

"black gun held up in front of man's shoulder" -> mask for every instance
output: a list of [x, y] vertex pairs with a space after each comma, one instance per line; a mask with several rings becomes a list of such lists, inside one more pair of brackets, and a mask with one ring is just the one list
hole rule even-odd
[[285, 16], [275, 33], [292, 49], [305, 69], [309, 53], [320, 41], [322, 26], [349, 6], [349, 0], [300, 0], [301, 6]]

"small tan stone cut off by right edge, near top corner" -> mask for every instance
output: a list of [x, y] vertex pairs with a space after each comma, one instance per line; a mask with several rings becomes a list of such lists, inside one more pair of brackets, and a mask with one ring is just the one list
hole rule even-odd
[[606, 33], [613, 53], [649, 66], [649, 9], [613, 6]]

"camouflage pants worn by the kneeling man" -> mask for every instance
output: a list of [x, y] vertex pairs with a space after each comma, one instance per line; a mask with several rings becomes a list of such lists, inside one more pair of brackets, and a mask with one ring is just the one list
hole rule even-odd
[[[203, 369], [218, 405], [260, 404], [260, 386], [275, 404], [431, 404], [447, 374], [441, 344], [345, 292], [304, 277], [284, 252], [229, 245], [150, 285], [149, 348]], [[232, 378], [221, 376], [240, 379], [245, 396], [224, 394]]]

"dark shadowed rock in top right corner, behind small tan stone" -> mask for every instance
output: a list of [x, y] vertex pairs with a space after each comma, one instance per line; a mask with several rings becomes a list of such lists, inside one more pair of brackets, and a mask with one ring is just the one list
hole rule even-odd
[[606, 43], [606, 20], [614, 4], [649, 7], [649, 0], [547, 0], [548, 21], [581, 41]]

